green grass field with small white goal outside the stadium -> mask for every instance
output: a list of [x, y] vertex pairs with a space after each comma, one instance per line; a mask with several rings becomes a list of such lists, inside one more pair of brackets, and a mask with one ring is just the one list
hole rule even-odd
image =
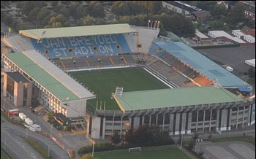
[[97, 159], [191, 159], [184, 154], [178, 147], [154, 147], [141, 148], [141, 151], [129, 152], [129, 150], [118, 150], [112, 152], [96, 152], [94, 157]]

